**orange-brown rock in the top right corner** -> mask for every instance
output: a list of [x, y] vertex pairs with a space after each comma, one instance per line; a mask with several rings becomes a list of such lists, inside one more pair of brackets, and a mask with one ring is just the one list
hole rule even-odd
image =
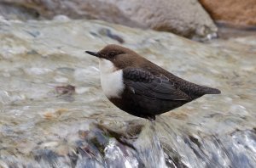
[[213, 20], [235, 25], [256, 25], [256, 0], [200, 0]]

